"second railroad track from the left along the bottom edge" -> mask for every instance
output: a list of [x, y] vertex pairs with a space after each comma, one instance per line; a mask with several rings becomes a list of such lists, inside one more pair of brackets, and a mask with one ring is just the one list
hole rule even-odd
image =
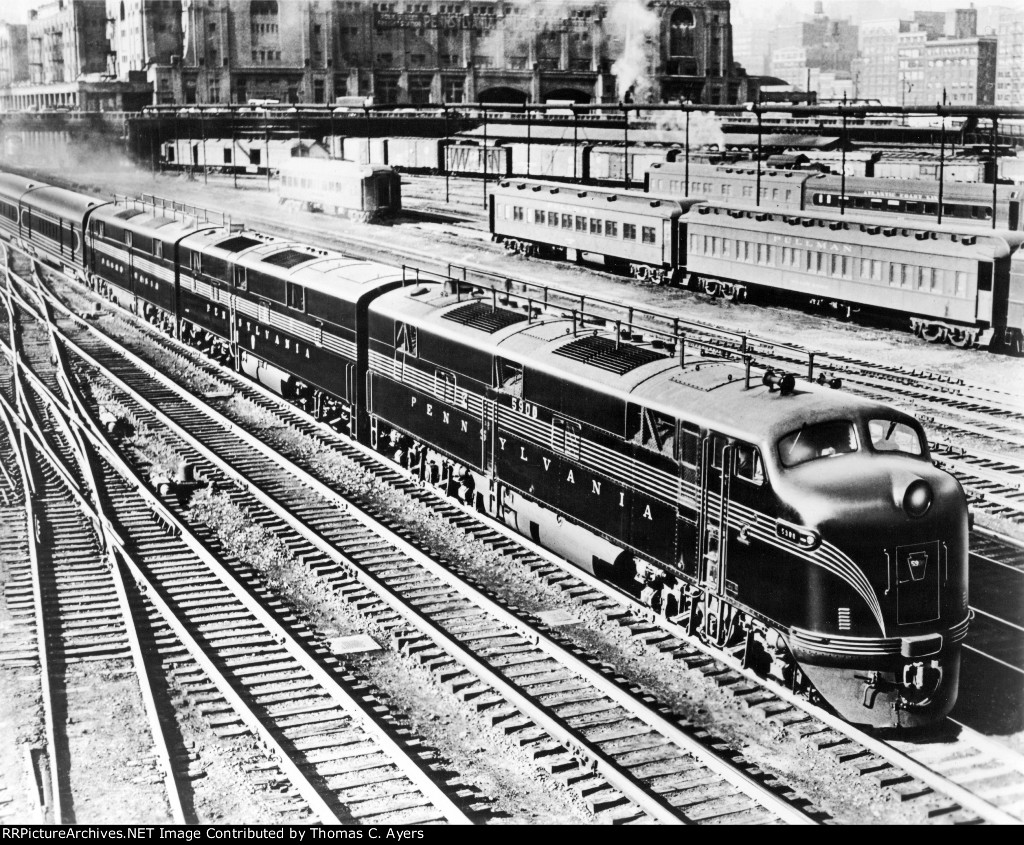
[[[35, 374], [29, 381], [52, 408], [71, 413]], [[204, 709], [222, 731], [251, 731], [275, 754], [278, 779], [294, 787], [284, 796], [289, 817], [467, 820], [434, 783], [422, 744], [392, 737], [400, 726], [374, 712], [380, 702], [373, 690], [338, 672], [337, 660], [255, 572], [226, 568], [211, 551], [212, 538], [183, 529], [97, 431], [88, 433], [104, 453], [95, 482], [110, 507], [94, 515], [116, 534], [119, 559], [190, 657], [179, 681], [206, 692]], [[90, 588], [85, 597], [94, 601], [95, 593]]]

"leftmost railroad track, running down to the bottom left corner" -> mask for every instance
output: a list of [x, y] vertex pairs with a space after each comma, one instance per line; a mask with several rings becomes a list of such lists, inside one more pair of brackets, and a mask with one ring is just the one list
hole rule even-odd
[[[24, 358], [38, 363], [48, 357], [45, 329], [40, 331], [38, 324], [18, 321], [9, 303], [4, 310], [11, 330], [8, 341], [16, 338]], [[173, 778], [166, 747], [161, 743], [158, 714], [148, 706], [152, 698], [143, 694], [146, 706], [139, 703], [134, 707], [129, 699], [115, 714], [89, 690], [82, 691], [83, 686], [92, 685], [85, 679], [96, 671], [86, 668], [86, 663], [101, 665], [108, 676], [130, 674], [135, 669], [141, 683], [147, 683], [147, 670], [130, 624], [124, 585], [109, 566], [102, 538], [80, 507], [78, 498], [85, 479], [70, 458], [72, 446], [67, 432], [57, 430], [60, 421], [47, 414], [20, 374], [7, 370], [6, 360], [3, 365], [5, 389], [0, 395], [0, 413], [5, 425], [11, 436], [16, 436], [14, 430], [20, 423], [15, 421], [20, 411], [34, 429], [33, 437], [20, 436], [18, 456], [26, 522], [33, 526], [26, 536], [29, 573], [23, 584], [11, 585], [22, 588], [18, 598], [27, 623], [26, 636], [19, 650], [4, 657], [15, 664], [35, 665], [39, 670], [46, 744], [31, 757], [43, 784], [44, 817], [56, 823], [81, 818], [81, 806], [88, 802], [91, 790], [79, 779], [80, 771], [73, 765], [75, 752], [98, 740], [103, 751], [95, 756], [103, 757], [104, 763], [136, 767], [129, 789], [134, 794], [134, 806], [142, 813], [139, 820], [182, 821], [180, 805], [169, 803], [164, 793], [164, 774], [171, 778], [170, 785]], [[94, 725], [92, 735], [84, 736], [70, 727], [73, 724]], [[133, 740], [108, 744], [112, 728], [123, 728]], [[151, 753], [153, 746], [144, 738], [151, 728], [155, 729], [155, 738], [161, 737], [157, 738], [156, 753]], [[99, 765], [102, 763], [97, 761]], [[119, 789], [118, 779], [115, 777], [111, 785], [112, 794]]]

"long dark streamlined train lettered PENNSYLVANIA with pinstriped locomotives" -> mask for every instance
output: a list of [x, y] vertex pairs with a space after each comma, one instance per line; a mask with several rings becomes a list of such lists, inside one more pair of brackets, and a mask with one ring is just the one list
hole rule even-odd
[[[642, 202], [657, 223], [638, 243], [664, 249], [684, 211]], [[631, 203], [579, 205], [571, 230], [601, 208], [618, 237], [646, 214]], [[0, 233], [848, 720], [953, 706], [968, 511], [903, 413], [679, 336], [14, 176]]]

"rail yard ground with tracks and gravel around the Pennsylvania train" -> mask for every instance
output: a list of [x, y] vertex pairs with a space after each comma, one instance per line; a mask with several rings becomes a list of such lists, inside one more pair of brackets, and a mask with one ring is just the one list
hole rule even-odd
[[462, 281], [529, 325], [538, 306], [575, 334], [579, 315], [614, 327], [616, 351], [682, 330], [677, 355], [742, 338], [838, 380], [920, 420], [963, 485], [974, 617], [948, 717], [858, 727], [668, 599], [645, 606], [488, 518], [472, 479], [345, 436], [7, 241], [0, 820], [1024, 820], [1021, 356], [510, 254], [479, 179], [402, 174], [401, 211], [369, 224], [283, 206], [263, 178], [116, 157], [31, 176]]

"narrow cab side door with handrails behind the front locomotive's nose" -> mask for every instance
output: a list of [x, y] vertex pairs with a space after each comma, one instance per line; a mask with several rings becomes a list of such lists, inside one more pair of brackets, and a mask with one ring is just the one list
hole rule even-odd
[[700, 443], [697, 508], [697, 578], [709, 592], [724, 594], [728, 566], [729, 484], [733, 448], [709, 431]]

